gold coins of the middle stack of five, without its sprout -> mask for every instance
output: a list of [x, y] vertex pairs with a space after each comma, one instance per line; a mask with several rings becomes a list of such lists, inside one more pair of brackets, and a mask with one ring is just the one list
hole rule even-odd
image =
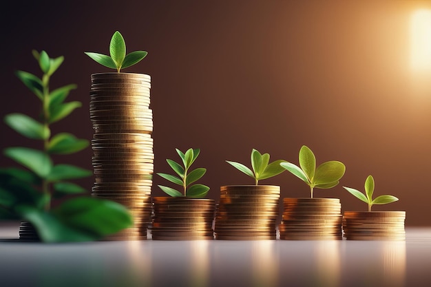
[[275, 240], [280, 187], [220, 187], [215, 211], [216, 240]]

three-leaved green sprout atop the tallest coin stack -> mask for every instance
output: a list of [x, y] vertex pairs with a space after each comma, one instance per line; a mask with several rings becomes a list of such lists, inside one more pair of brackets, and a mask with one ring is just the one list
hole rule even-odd
[[119, 73], [121, 69], [125, 69], [126, 67], [140, 62], [148, 53], [145, 51], [134, 51], [126, 54], [126, 43], [123, 35], [116, 31], [114, 35], [112, 35], [111, 43], [109, 43], [110, 56], [94, 52], [85, 52], [85, 54], [105, 67], [116, 69]]

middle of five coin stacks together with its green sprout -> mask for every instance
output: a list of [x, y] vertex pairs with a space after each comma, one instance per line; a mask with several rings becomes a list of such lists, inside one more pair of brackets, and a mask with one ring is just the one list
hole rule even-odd
[[255, 185], [220, 187], [220, 203], [215, 213], [215, 239], [217, 240], [275, 240], [277, 237], [280, 187], [258, 185], [259, 180], [282, 173], [280, 163], [269, 163], [269, 153], [251, 151], [251, 167], [227, 160], [233, 167], [254, 179]]

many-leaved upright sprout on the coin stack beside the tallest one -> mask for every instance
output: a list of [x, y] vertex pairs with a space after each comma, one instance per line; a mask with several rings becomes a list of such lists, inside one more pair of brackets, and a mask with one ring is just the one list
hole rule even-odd
[[182, 153], [182, 151], [176, 149], [176, 152], [182, 160], [182, 166], [181, 164], [174, 162], [174, 160], [167, 159], [166, 161], [169, 166], [174, 169], [179, 178], [178, 176], [172, 176], [167, 173], [157, 174], [162, 178], [173, 182], [174, 184], [180, 185], [182, 187], [182, 192], [172, 189], [171, 187], [165, 187], [163, 185], [159, 185], [158, 187], [160, 187], [162, 191], [165, 191], [165, 193], [174, 197], [189, 196], [191, 198], [203, 198], [205, 195], [207, 195], [209, 187], [203, 184], [193, 184], [191, 186], [190, 184], [200, 180], [200, 178], [202, 178], [202, 176], [204, 176], [204, 174], [207, 172], [207, 169], [199, 167], [198, 169], [193, 169], [192, 171], [189, 170], [191, 164], [193, 164], [196, 158], [198, 158], [200, 149], [187, 149], [185, 153]]

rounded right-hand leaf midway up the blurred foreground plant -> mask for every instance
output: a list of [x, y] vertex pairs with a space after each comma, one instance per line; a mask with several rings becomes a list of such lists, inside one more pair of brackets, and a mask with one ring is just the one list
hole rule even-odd
[[76, 153], [88, 147], [88, 140], [76, 138], [69, 133], [61, 133], [53, 136], [48, 143], [48, 152], [57, 154]]

